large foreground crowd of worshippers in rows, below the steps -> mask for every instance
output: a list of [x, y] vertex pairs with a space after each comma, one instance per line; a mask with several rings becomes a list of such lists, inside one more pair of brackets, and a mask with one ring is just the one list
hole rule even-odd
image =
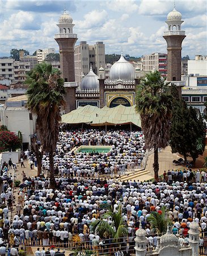
[[[195, 221], [200, 225], [202, 234], [200, 247], [204, 246], [202, 237], [207, 231], [205, 183], [56, 178], [56, 189], [53, 190], [49, 182], [45, 183], [45, 178], [23, 176], [12, 222], [9, 224], [7, 221], [9, 205], [5, 207], [7, 210], [4, 208], [0, 212], [3, 220], [0, 222], [1, 235], [9, 245], [71, 247], [73, 236], [77, 234], [86, 248], [99, 246], [104, 250], [104, 243], [109, 243], [105, 240], [108, 237], [94, 233], [90, 224], [105, 213], [102, 204], [109, 204], [114, 212], [121, 205], [122, 217], [128, 227], [128, 237], [124, 242], [129, 244], [132, 251], [140, 223], [146, 230], [149, 244], [157, 245], [157, 234], [151, 230], [147, 218], [151, 212], [159, 212], [163, 206], [174, 223], [172, 232], [180, 235], [181, 246], [188, 242], [189, 224], [195, 213]], [[6, 193], [9, 190], [7, 188]], [[107, 221], [113, 226], [110, 217]]]

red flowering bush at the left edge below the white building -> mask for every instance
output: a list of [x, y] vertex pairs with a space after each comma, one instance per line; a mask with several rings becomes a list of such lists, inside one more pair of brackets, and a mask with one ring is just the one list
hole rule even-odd
[[0, 152], [15, 151], [21, 147], [21, 142], [18, 136], [11, 131], [0, 130]]

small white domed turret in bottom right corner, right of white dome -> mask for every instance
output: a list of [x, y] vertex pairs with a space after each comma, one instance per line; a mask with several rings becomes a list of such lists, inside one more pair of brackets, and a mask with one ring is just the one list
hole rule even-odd
[[192, 248], [192, 256], [198, 256], [198, 243], [199, 243], [199, 225], [196, 223], [195, 221], [195, 214], [193, 216], [193, 221], [191, 222], [191, 224], [189, 225], [189, 230], [188, 230], [188, 234], [189, 234], [189, 244], [191, 245]]

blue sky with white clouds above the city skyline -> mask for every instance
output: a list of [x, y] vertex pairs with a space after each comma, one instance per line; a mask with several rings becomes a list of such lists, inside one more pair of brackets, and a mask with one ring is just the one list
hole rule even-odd
[[[176, 0], [176, 10], [182, 14], [182, 56], [207, 55], [207, 1]], [[77, 44], [103, 41], [105, 53], [140, 57], [153, 52], [167, 53], [163, 32], [167, 31], [167, 14], [174, 1], [160, 0], [0, 0], [0, 56], [10, 56], [10, 49], [27, 49], [32, 55], [36, 49], [55, 48], [58, 44], [58, 18], [64, 13], [73, 18], [73, 32]]]

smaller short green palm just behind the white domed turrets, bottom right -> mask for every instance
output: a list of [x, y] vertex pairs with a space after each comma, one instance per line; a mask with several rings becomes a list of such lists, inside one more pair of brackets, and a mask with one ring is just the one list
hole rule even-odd
[[162, 213], [151, 212], [150, 216], [147, 217], [147, 221], [150, 223], [151, 228], [157, 234], [166, 233], [167, 225], [171, 225], [171, 220], [167, 217], [166, 208], [161, 208]]

